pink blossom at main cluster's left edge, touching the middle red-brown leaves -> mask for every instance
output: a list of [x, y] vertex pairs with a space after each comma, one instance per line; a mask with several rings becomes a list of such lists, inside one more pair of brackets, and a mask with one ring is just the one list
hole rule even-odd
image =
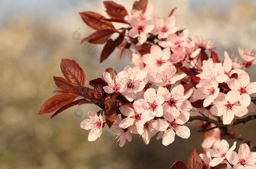
[[112, 79], [110, 76], [110, 73], [103, 72], [103, 78], [107, 82], [108, 86], [104, 86], [103, 89], [107, 93], [123, 93], [127, 86], [127, 80], [128, 80], [128, 73], [127, 71], [121, 71], [117, 74], [115, 79]]

